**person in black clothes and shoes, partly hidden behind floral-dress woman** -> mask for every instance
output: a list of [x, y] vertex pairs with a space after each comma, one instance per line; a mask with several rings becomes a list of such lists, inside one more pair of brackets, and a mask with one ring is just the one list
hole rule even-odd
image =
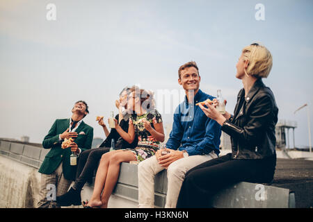
[[[133, 116], [136, 118], [136, 114], [131, 114], [129, 106], [127, 105], [127, 96], [131, 92], [134, 92], [134, 90], [135, 87], [125, 87], [122, 89], [122, 92], [120, 92], [120, 99], [115, 101], [115, 105], [119, 109], [119, 114], [116, 115], [115, 119], [120, 119], [119, 126], [126, 132], [128, 131], [129, 117]], [[124, 112], [122, 112], [122, 107], [125, 107]], [[97, 169], [102, 155], [110, 151], [112, 139], [115, 141], [115, 149], [136, 148], [138, 137], [135, 137], [134, 141], [129, 144], [125, 141], [125, 139], [122, 139], [115, 128], [112, 128], [111, 133], [109, 133], [109, 130], [106, 128], [103, 119], [99, 119], [99, 125], [104, 128], [106, 139], [99, 146], [99, 148], [93, 148], [81, 153], [77, 166], [77, 178], [74, 182], [74, 185], [70, 188], [69, 191], [67, 191], [67, 193], [56, 197], [58, 205], [81, 205], [81, 189], [88, 181], [88, 179], [93, 177], [93, 173], [95, 169]]]

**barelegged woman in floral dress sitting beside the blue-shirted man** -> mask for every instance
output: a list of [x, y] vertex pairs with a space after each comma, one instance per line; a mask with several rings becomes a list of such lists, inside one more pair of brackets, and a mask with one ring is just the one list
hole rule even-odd
[[136, 117], [129, 117], [129, 129], [126, 133], [115, 119], [115, 129], [123, 139], [131, 143], [138, 136], [138, 146], [134, 149], [111, 151], [102, 155], [95, 178], [93, 196], [84, 207], [107, 207], [109, 198], [118, 181], [122, 162], [143, 161], [154, 155], [164, 141], [161, 114], [154, 109], [154, 99], [150, 92], [136, 89], [129, 94], [129, 107]]

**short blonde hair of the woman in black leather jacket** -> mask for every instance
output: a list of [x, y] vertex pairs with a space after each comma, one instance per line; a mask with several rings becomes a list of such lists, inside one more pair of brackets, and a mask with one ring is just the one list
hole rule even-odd
[[242, 55], [245, 60], [249, 61], [246, 74], [255, 76], [257, 78], [267, 78], [273, 65], [273, 58], [266, 49], [257, 43], [250, 44], [242, 50]]

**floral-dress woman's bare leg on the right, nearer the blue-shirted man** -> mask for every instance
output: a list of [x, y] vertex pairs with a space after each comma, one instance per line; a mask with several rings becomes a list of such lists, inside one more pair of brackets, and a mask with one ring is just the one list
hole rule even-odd
[[104, 185], [104, 191], [101, 197], [102, 206], [108, 207], [109, 198], [112, 194], [112, 191], [118, 181], [118, 176], [120, 173], [120, 164], [122, 162], [129, 162], [132, 160], [136, 160], [134, 153], [131, 151], [123, 151], [121, 153], [115, 153], [110, 158], [109, 169], [106, 175], [106, 183]]

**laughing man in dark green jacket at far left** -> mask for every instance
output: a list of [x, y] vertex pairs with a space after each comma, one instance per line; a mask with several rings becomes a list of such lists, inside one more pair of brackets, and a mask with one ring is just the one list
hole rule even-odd
[[[72, 180], [75, 180], [77, 166], [70, 164], [70, 155], [79, 155], [90, 149], [93, 142], [93, 128], [83, 122], [83, 117], [88, 113], [87, 103], [77, 101], [72, 108], [72, 118], [56, 119], [45, 136], [42, 146], [51, 150], [39, 169], [41, 181], [38, 207], [58, 207], [56, 196], [65, 194]], [[70, 137], [74, 142], [69, 147], [62, 148], [64, 139]]]

